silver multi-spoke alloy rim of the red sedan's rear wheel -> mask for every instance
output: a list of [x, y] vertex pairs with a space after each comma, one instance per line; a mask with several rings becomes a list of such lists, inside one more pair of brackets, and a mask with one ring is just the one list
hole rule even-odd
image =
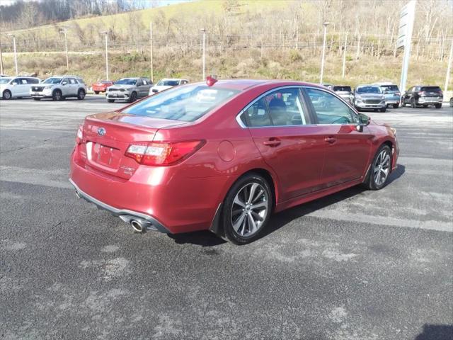
[[231, 225], [241, 237], [256, 234], [269, 212], [269, 198], [259, 183], [248, 183], [236, 194], [231, 205]]

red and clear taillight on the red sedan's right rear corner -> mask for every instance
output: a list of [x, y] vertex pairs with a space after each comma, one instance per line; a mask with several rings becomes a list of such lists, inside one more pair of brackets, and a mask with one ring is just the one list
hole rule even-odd
[[135, 143], [127, 148], [125, 155], [135, 159], [139, 164], [167, 166], [190, 157], [204, 144], [202, 140]]

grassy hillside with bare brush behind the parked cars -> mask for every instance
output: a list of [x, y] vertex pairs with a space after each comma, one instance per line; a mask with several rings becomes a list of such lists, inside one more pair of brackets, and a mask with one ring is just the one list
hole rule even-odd
[[[36, 73], [42, 78], [52, 74], [80, 74], [88, 84], [103, 79], [105, 59], [100, 32], [108, 30], [110, 78], [149, 77], [149, 22], [152, 21], [155, 81], [162, 77], [200, 80], [200, 28], [207, 28], [207, 74], [217, 74], [222, 79], [318, 82], [321, 23], [328, 18], [331, 26], [325, 82], [356, 85], [393, 81], [398, 84], [402, 56], [400, 53], [394, 57], [394, 42], [389, 40], [389, 36], [384, 36], [387, 31], [391, 32], [389, 18], [396, 23], [397, 16], [387, 18], [385, 4], [376, 2], [376, 23], [372, 23], [365, 1], [351, 2], [352, 9], [331, 8], [326, 11], [326, 6], [331, 3], [335, 6], [343, 4], [341, 1], [325, 0], [201, 0], [16, 31], [18, 51], [21, 52], [19, 70], [23, 74]], [[363, 18], [367, 20], [356, 22], [353, 19], [359, 18], [356, 13], [364, 13]], [[379, 20], [381, 16], [386, 19]], [[368, 32], [374, 29], [374, 34], [358, 35], [360, 30], [354, 30], [356, 24], [364, 30], [367, 28]], [[64, 50], [62, 35], [58, 32], [63, 26], [68, 28], [69, 69], [66, 69], [64, 53], [61, 52]], [[341, 47], [345, 33], [349, 34], [348, 61], [346, 77], [342, 79]], [[2, 46], [7, 52], [11, 46], [6, 42], [11, 38], [5, 42], [5, 37], [3, 34]], [[448, 45], [441, 46], [445, 55], [448, 50], [445, 46]], [[415, 50], [420, 51], [418, 57], [415, 57]], [[443, 86], [447, 57], [440, 57], [439, 50], [435, 50], [433, 45], [420, 45], [416, 49], [414, 46], [413, 51], [408, 85]], [[14, 73], [12, 54], [9, 52], [4, 53], [4, 67], [6, 74]], [[453, 77], [450, 79], [449, 87], [452, 88]]]

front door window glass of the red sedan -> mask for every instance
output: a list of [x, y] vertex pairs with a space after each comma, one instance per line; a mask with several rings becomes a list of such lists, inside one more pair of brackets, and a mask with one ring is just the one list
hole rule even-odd
[[319, 124], [355, 124], [357, 119], [349, 106], [326, 91], [306, 89]]

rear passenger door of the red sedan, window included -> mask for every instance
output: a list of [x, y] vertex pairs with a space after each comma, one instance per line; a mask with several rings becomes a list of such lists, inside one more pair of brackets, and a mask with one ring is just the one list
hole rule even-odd
[[316, 191], [323, 166], [323, 140], [299, 87], [269, 91], [249, 104], [242, 115], [264, 161], [277, 174], [279, 200]]

